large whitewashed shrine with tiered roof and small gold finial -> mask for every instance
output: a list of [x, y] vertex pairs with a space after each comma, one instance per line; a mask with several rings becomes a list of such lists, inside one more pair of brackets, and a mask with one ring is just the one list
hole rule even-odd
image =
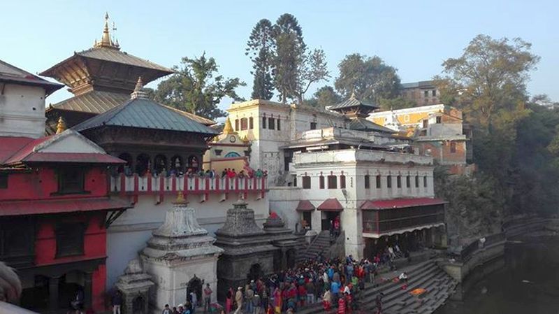
[[[215, 238], [200, 227], [194, 208], [187, 204], [179, 192], [164, 224], [153, 231], [140, 252], [145, 270], [156, 283], [150, 296], [152, 313], [161, 313], [165, 304], [184, 304], [190, 292], [202, 300], [206, 283], [217, 291], [217, 258], [224, 250], [213, 245]], [[212, 294], [212, 302], [216, 294]]]

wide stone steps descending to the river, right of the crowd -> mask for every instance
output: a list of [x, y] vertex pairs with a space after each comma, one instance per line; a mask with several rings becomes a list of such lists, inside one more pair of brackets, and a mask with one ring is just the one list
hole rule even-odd
[[[437, 266], [434, 260], [399, 269], [398, 271], [381, 273], [379, 276], [391, 279], [398, 276], [402, 271], [407, 271], [408, 274], [408, 287], [406, 290], [402, 290], [402, 284], [393, 283], [391, 280], [381, 283], [377, 287], [368, 285], [362, 292], [361, 299], [357, 301], [358, 308], [355, 313], [376, 313], [375, 298], [382, 292], [384, 293], [382, 299], [383, 314], [430, 314], [444, 304], [456, 287], [456, 281]], [[423, 293], [421, 299], [409, 294], [410, 291], [416, 288], [427, 290]], [[305, 306], [298, 311], [298, 314], [315, 313], [324, 313], [321, 304]]]

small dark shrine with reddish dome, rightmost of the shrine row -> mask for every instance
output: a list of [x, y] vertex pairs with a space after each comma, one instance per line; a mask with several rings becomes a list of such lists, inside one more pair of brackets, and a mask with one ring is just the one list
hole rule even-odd
[[263, 231], [270, 236], [272, 245], [279, 248], [274, 255], [274, 271], [294, 267], [298, 248], [306, 245], [304, 239], [295, 236], [291, 229], [286, 228], [282, 218], [275, 212], [271, 212], [270, 216], [266, 218], [266, 222], [263, 223]]

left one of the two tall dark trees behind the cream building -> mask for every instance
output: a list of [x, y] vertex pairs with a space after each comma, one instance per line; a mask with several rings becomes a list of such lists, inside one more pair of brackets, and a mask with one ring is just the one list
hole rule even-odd
[[262, 19], [252, 29], [247, 42], [245, 55], [252, 61], [251, 74], [254, 76], [252, 85], [252, 99], [266, 99], [273, 97], [273, 58], [275, 52], [275, 40], [273, 37], [272, 23]]

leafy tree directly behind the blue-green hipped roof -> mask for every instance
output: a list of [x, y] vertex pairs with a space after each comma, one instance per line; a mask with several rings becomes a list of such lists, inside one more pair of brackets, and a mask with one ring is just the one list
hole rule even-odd
[[242, 101], [235, 89], [245, 86], [239, 78], [218, 75], [215, 59], [201, 57], [182, 58], [182, 67], [174, 66], [173, 76], [159, 83], [154, 100], [180, 110], [215, 119], [225, 115], [217, 108], [224, 97]]

